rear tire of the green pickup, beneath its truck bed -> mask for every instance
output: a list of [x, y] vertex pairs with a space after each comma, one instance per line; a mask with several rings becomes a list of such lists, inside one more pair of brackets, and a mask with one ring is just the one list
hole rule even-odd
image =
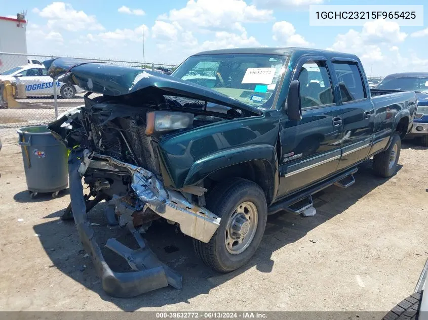
[[[397, 151], [395, 151], [395, 161], [390, 165], [390, 160], [393, 155], [394, 147], [397, 146]], [[379, 175], [384, 178], [392, 176], [397, 170], [398, 159], [400, 158], [401, 151], [401, 139], [398, 133], [393, 135], [391, 145], [385, 151], [378, 153], [373, 157], [373, 171], [376, 175]]]

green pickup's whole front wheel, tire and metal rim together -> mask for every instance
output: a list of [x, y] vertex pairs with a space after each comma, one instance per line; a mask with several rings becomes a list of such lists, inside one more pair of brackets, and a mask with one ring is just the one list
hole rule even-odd
[[[221, 218], [220, 226], [208, 243], [193, 239], [193, 248], [196, 254], [206, 265], [219, 272], [225, 273], [240, 268], [256, 252], [266, 227], [267, 205], [263, 190], [252, 181], [232, 178], [231, 180], [220, 182], [212, 190], [207, 197], [206, 207]], [[229, 219], [232, 216], [237, 220], [241, 219], [244, 213], [239, 212], [245, 212], [245, 210], [247, 210], [246, 214], [254, 217], [252, 220], [246, 220], [245, 223], [247, 223], [248, 228], [245, 227], [245, 223], [242, 224], [239, 231], [245, 236], [242, 242], [238, 243], [238, 240], [234, 241], [235, 238], [232, 239], [237, 235], [235, 232], [233, 235], [229, 235], [229, 230], [231, 230]], [[255, 216], [257, 216], [256, 220]], [[234, 218], [231, 220], [234, 221]], [[239, 221], [242, 222], [242, 220]], [[253, 223], [256, 221], [252, 227], [251, 221]], [[251, 237], [252, 234], [253, 236]], [[232, 239], [232, 242], [229, 241], [231, 245], [226, 245], [226, 238]]]

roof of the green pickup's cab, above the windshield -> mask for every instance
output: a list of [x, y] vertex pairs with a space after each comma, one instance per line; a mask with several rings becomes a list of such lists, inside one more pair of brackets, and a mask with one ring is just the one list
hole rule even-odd
[[195, 54], [194, 56], [201, 55], [221, 55], [221, 54], [262, 54], [262, 55], [281, 55], [290, 56], [292, 54], [323, 54], [326, 57], [341, 57], [341, 58], [357, 58], [356, 55], [340, 53], [328, 50], [309, 49], [309, 48], [235, 48], [235, 49], [220, 49], [203, 51]]

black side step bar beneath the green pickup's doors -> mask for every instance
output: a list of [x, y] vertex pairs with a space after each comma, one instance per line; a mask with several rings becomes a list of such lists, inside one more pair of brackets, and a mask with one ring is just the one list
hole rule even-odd
[[[357, 167], [348, 169], [342, 173], [334, 175], [331, 178], [322, 180], [308, 189], [293, 193], [290, 196], [287, 196], [286, 198], [279, 200], [278, 202], [274, 203], [269, 208], [267, 208], [267, 214], [268, 215], [275, 214], [279, 211], [284, 210], [293, 214], [303, 213], [303, 215], [305, 215], [304, 211], [308, 210], [313, 205], [313, 202], [312, 202], [313, 194], [316, 194], [317, 192], [331, 185], [335, 185], [336, 182], [337, 182], [336, 186], [339, 186], [341, 188], [347, 188], [349, 186], [352, 186], [355, 182], [355, 178], [353, 174], [357, 171], [358, 171]], [[308, 214], [308, 215], [313, 215], [313, 214]]]

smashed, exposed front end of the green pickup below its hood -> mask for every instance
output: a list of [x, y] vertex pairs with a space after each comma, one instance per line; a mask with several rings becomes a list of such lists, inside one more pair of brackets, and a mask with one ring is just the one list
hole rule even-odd
[[[164, 187], [160, 160], [153, 149], [156, 141], [145, 135], [145, 113], [119, 112], [119, 108], [89, 104], [49, 126], [71, 149], [68, 169], [72, 216], [109, 295], [132, 297], [168, 285], [180, 289], [181, 276], [158, 260], [140, 232], [145, 232], [151, 221], [165, 218], [176, 223], [183, 234], [208, 242], [220, 218], [193, 204], [192, 197], [196, 196], [186, 194], [186, 198], [180, 191]], [[89, 186], [87, 196], [82, 177]], [[140, 247], [132, 250], [115, 239], [106, 243], [128, 262], [133, 272], [112, 271], [95, 240], [87, 212], [102, 200], [107, 201], [108, 223], [127, 227]]]

